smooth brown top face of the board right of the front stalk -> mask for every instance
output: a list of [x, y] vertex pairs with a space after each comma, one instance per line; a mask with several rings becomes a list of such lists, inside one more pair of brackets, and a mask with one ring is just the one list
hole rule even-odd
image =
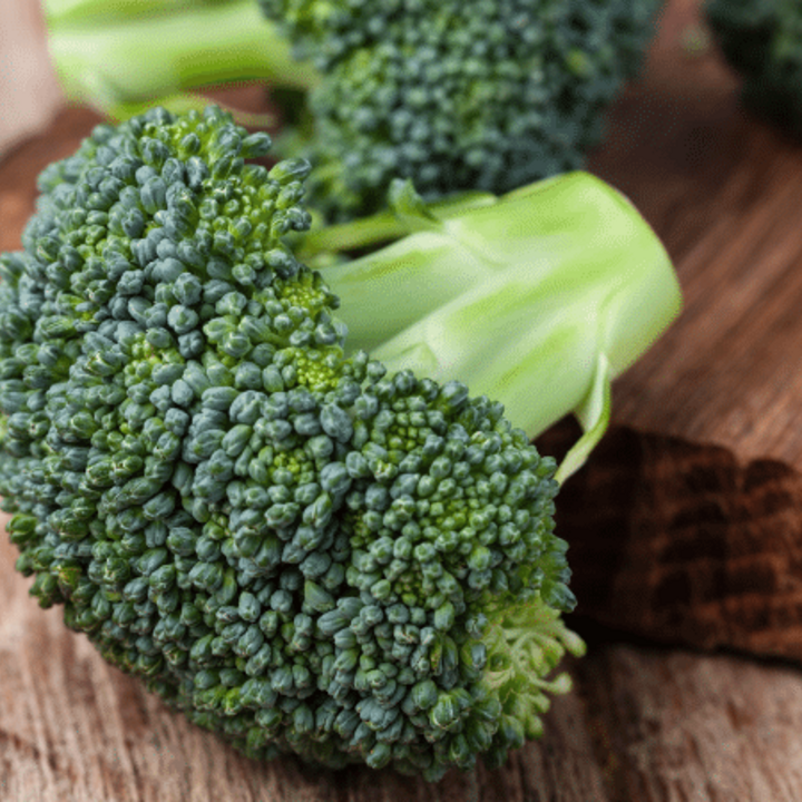
[[593, 160], [652, 223], [685, 309], [615, 388], [617, 422], [802, 468], [802, 147], [749, 117], [715, 49], [668, 6], [644, 79]]

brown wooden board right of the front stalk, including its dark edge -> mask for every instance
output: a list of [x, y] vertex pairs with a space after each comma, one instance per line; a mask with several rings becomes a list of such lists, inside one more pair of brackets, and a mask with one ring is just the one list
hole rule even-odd
[[580, 614], [802, 661], [802, 143], [744, 113], [715, 50], [683, 56], [697, 2], [669, 4], [593, 163], [665, 242], [685, 309], [616, 383], [559, 526]]

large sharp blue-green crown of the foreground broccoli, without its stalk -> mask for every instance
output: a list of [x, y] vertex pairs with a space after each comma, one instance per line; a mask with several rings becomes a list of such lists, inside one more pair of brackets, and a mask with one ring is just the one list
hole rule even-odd
[[0, 492], [31, 593], [257, 757], [440, 776], [537, 733], [570, 633], [554, 460], [343, 355], [282, 235], [309, 166], [216, 108], [98, 126], [0, 258]]

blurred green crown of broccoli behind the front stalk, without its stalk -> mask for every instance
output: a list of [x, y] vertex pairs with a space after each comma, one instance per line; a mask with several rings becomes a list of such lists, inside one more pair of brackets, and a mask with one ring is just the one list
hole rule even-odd
[[324, 75], [311, 192], [332, 217], [393, 177], [433, 198], [579, 167], [632, 77], [656, 0], [261, 0]]

